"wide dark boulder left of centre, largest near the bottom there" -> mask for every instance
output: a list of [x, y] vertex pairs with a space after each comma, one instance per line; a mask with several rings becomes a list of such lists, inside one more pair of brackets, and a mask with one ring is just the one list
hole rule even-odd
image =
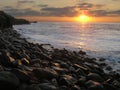
[[49, 68], [38, 68], [33, 70], [38, 79], [52, 79], [58, 76], [57, 72]]

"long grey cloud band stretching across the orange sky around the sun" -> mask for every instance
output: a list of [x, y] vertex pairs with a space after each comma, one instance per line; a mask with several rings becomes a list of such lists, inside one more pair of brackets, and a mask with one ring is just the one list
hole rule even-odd
[[78, 6], [68, 7], [48, 7], [47, 5], [39, 5], [40, 10], [35, 11], [31, 8], [16, 9], [12, 6], [5, 6], [3, 8], [8, 14], [13, 16], [56, 16], [56, 17], [74, 17], [78, 16], [81, 11], [87, 10], [91, 16], [120, 16], [120, 10], [107, 11], [99, 7], [104, 7], [101, 4], [81, 3]]

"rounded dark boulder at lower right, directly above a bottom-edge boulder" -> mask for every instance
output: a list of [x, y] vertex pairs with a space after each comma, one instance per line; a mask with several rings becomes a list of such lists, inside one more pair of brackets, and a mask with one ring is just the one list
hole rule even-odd
[[88, 80], [93, 80], [93, 81], [96, 81], [96, 82], [103, 82], [104, 81], [104, 79], [96, 73], [89, 73], [88, 76], [87, 76], [87, 79]]

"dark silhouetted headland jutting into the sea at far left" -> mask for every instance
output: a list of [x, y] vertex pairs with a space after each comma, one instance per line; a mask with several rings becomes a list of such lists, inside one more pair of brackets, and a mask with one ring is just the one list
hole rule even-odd
[[12, 25], [30, 24], [25, 19], [16, 19], [3, 11], [0, 11], [0, 29], [12, 28]]

